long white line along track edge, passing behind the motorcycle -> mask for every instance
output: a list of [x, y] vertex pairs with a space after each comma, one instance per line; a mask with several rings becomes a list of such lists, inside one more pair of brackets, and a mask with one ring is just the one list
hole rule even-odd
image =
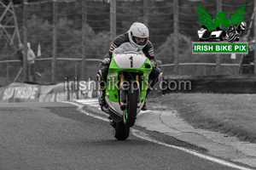
[[[83, 110], [83, 105], [79, 105], [79, 104], [76, 104], [76, 103], [73, 103], [73, 102], [68, 102], [68, 101], [65, 101], [63, 103], [69, 103], [69, 104], [77, 105], [77, 106], [79, 106], [78, 111], [80, 111], [81, 113], [84, 113], [84, 115], [92, 116], [96, 119], [100, 119], [102, 121], [109, 122], [109, 120], [105, 117], [96, 116], [94, 114], [88, 113], [87, 111], [84, 111]], [[164, 145], [166, 147], [173, 148], [173, 149], [176, 149], [176, 150], [182, 150], [182, 151], [184, 151], [186, 153], [189, 153], [193, 156], [197, 156], [197, 157], [200, 157], [200, 158], [208, 160], [208, 161], [213, 161], [215, 163], [218, 163], [220, 165], [224, 165], [226, 167], [233, 167], [233, 168], [240, 169], [240, 170], [253, 170], [253, 169], [250, 169], [250, 168], [247, 168], [247, 167], [242, 167], [242, 166], [236, 165], [235, 163], [232, 163], [230, 161], [224, 161], [222, 159], [219, 159], [219, 158], [216, 158], [216, 157], [213, 157], [213, 156], [207, 156], [207, 155], [201, 154], [199, 152], [196, 152], [195, 150], [189, 150], [189, 149], [186, 149], [186, 148], [183, 148], [183, 147], [179, 147], [179, 146], [172, 145], [172, 144], [166, 144], [164, 142], [160, 142], [158, 140], [151, 139], [151, 138], [148, 137], [147, 133], [143, 133], [142, 131], [134, 129], [134, 128], [131, 128], [131, 133], [139, 139], [144, 139], [144, 140], [147, 140], [149, 142], [153, 142], [154, 144], [161, 144], [161, 145]]]

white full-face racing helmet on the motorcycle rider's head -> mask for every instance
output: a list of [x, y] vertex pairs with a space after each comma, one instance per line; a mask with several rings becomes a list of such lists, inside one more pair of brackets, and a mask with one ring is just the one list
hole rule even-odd
[[[130, 30], [128, 31], [129, 40], [131, 45], [139, 50], [142, 50], [148, 43], [149, 31], [148, 27], [143, 23], [135, 22], [131, 25]], [[143, 42], [137, 42], [137, 38], [144, 38]]]

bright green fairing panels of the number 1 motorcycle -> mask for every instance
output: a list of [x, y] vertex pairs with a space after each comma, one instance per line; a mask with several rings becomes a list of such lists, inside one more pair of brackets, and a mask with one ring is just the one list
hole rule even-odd
[[[145, 60], [143, 66], [140, 68], [123, 69], [123, 68], [120, 68], [119, 65], [116, 64], [114, 59], [112, 59], [110, 65], [109, 65], [109, 69], [108, 69], [106, 97], [112, 102], [119, 103], [118, 73], [119, 73], [119, 71], [125, 70], [125, 71], [130, 71], [130, 72], [143, 72], [143, 83], [142, 83], [143, 87], [142, 87], [140, 99], [141, 99], [141, 101], [145, 100], [145, 97], [147, 94], [147, 89], [148, 89], [148, 86], [145, 83], [146, 81], [148, 81], [148, 78], [146, 78], [146, 75], [149, 76], [149, 73], [152, 71], [152, 67], [145, 68], [145, 65], [150, 65], [150, 61], [148, 58]], [[116, 74], [116, 77], [110, 77], [113, 74]], [[114, 80], [114, 84], [111, 84], [110, 81], [113, 81], [113, 80]]]

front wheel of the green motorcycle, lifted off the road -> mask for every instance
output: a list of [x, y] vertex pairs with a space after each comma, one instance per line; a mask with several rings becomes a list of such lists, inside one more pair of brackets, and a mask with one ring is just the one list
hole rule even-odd
[[137, 88], [137, 83], [131, 83], [128, 110], [125, 112], [124, 115], [125, 127], [132, 127], [136, 121], [138, 95], [139, 91]]

